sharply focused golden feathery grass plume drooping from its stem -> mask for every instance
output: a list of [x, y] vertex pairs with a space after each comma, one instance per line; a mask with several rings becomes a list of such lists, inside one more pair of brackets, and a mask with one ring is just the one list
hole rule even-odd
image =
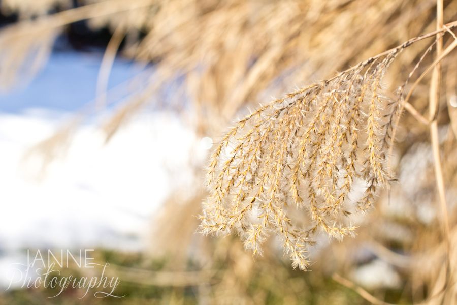
[[[386, 156], [405, 103], [404, 86], [399, 99], [389, 101], [382, 94], [382, 79], [402, 50], [425, 37], [261, 106], [238, 121], [211, 156], [211, 193], [204, 203], [202, 232], [235, 231], [254, 254], [274, 232], [292, 266], [302, 270], [309, 266], [307, 248], [318, 230], [337, 239], [354, 235], [356, 227], [348, 224], [353, 210], [366, 211], [377, 190], [393, 179]], [[353, 200], [356, 181], [363, 182], [365, 190]], [[292, 205], [308, 212], [306, 227], [288, 217]]]

